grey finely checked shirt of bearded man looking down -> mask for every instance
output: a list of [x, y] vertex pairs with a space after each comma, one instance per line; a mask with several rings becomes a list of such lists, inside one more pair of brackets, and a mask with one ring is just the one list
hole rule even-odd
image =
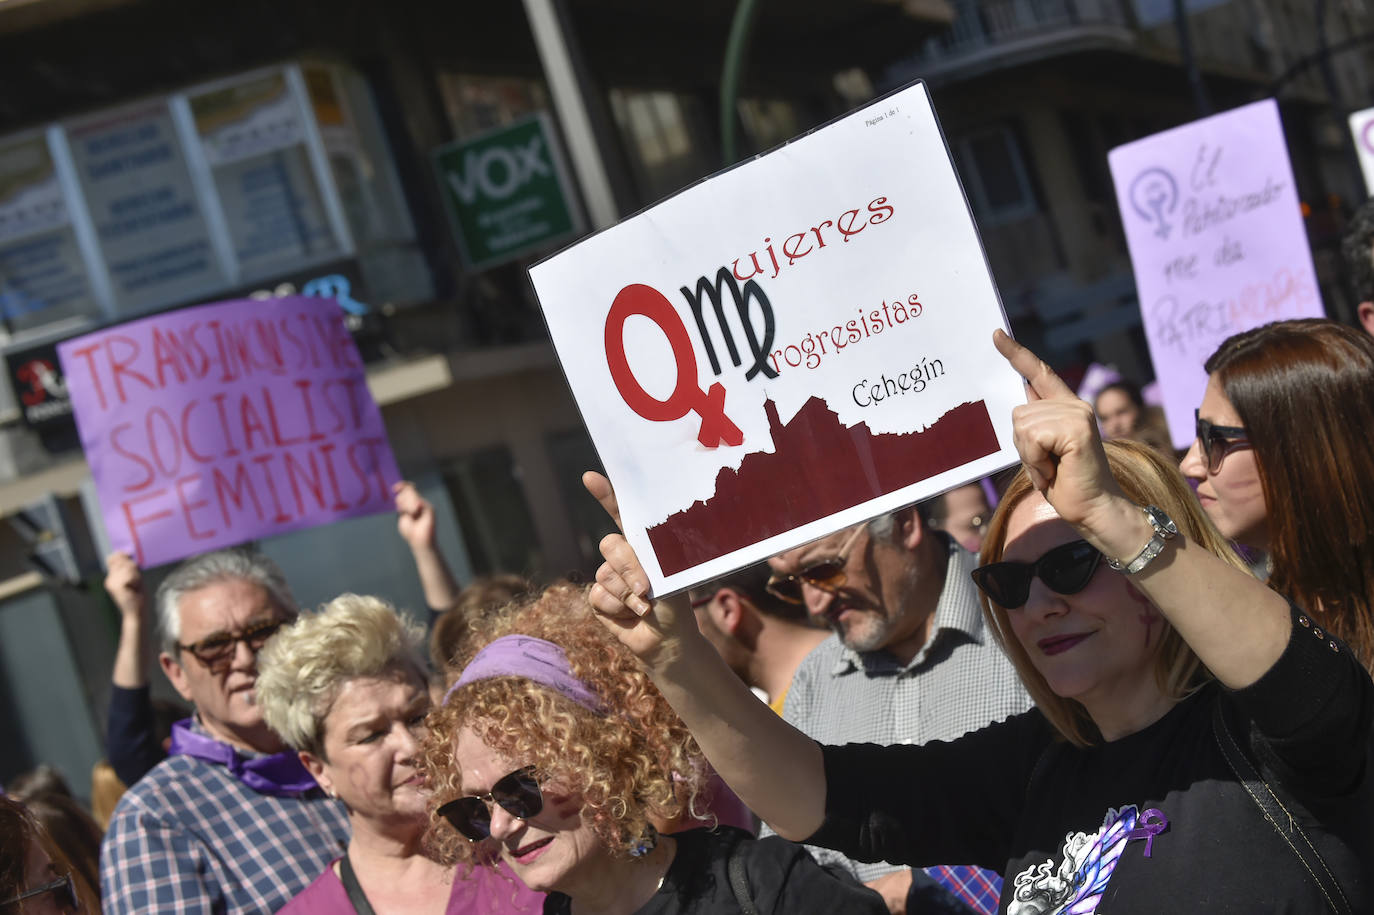
[[[952, 741], [1029, 709], [1015, 668], [984, 625], [969, 577], [974, 566], [976, 558], [949, 541], [932, 637], [908, 664], [886, 651], [852, 651], [831, 635], [797, 669], [783, 717], [820, 743], [889, 745]], [[900, 870], [853, 861], [830, 849], [809, 850], [822, 864], [842, 867], [863, 882]], [[998, 911], [1002, 879], [996, 874], [973, 867], [927, 872], [980, 911]]]

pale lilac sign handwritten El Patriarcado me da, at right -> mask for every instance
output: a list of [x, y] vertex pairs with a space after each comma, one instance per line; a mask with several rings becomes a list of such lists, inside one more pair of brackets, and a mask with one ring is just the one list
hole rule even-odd
[[1270, 99], [1107, 157], [1175, 447], [1194, 437], [1202, 364], [1231, 334], [1320, 317], [1278, 104]]

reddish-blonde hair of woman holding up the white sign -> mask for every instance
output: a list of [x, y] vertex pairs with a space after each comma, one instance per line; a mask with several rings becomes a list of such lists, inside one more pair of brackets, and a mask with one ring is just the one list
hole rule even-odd
[[[1127, 497], [1142, 506], [1162, 508], [1167, 515], [1173, 518], [1179, 533], [1184, 537], [1235, 567], [1245, 569], [1245, 563], [1202, 511], [1178, 467], [1140, 442], [1123, 438], [1102, 442], [1102, 447], [1106, 449], [1112, 475]], [[1007, 540], [1007, 519], [1013, 510], [1032, 492], [1035, 490], [1030, 486], [1030, 478], [1022, 468], [1002, 495], [998, 511], [988, 523], [988, 536], [982, 541], [982, 552], [978, 556], [981, 565], [1002, 562]], [[1098, 574], [1105, 574], [1105, 570], [1106, 565], [1103, 563]], [[1070, 743], [1076, 746], [1099, 743], [1102, 736], [1087, 709], [1074, 699], [1057, 695], [1044, 676], [1036, 670], [1030, 655], [1026, 654], [1025, 647], [1011, 631], [1006, 609], [988, 600], [985, 594], [980, 592], [978, 598], [982, 602], [982, 614], [992, 635], [1007, 653], [1040, 713]], [[1164, 637], [1154, 643], [1154, 679], [1160, 691], [1171, 699], [1182, 699], [1210, 679], [1210, 673], [1202, 666], [1178, 629], [1168, 625], [1168, 620], [1165, 620]]]

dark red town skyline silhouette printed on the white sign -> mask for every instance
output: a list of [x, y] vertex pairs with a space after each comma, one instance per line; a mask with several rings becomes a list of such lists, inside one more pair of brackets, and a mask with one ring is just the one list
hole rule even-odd
[[998, 451], [981, 400], [955, 407], [918, 433], [874, 434], [868, 423], [845, 426], [820, 397], [808, 400], [786, 426], [771, 400], [764, 409], [775, 451], [746, 455], [739, 470], [721, 468], [714, 495], [646, 530], [664, 574]]

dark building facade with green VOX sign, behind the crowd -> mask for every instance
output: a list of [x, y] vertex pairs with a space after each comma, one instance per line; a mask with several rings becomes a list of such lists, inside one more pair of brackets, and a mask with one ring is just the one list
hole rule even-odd
[[[863, 100], [856, 65], [952, 18], [945, 0], [785, 5], [741, 23], [736, 155]], [[725, 163], [734, 14], [0, 3], [0, 782], [48, 761], [84, 791], [102, 754], [118, 621], [55, 356], [82, 332], [228, 298], [335, 298], [459, 578], [589, 577], [610, 523], [580, 475], [599, 462], [525, 268]], [[534, 172], [556, 173], [540, 201], [556, 229], [511, 221]], [[260, 545], [305, 606], [359, 591], [419, 610], [390, 515]]]

